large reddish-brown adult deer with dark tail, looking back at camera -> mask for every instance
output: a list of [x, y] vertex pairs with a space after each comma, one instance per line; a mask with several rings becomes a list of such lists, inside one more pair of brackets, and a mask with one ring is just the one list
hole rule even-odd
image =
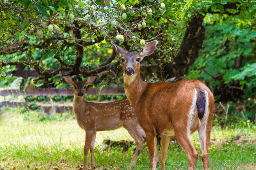
[[194, 170], [198, 153], [190, 139], [196, 129], [199, 133], [203, 167], [208, 170], [208, 145], [212, 126], [214, 98], [209, 88], [198, 80], [182, 80], [177, 83], [147, 83], [140, 78], [140, 61], [151, 55], [157, 41], [147, 43], [139, 53], [125, 52], [112, 46], [123, 63], [124, 88], [134, 106], [137, 119], [146, 133], [151, 169], [156, 169], [156, 134], [161, 135], [159, 161], [165, 169], [170, 138], [176, 137], [188, 156], [188, 169]]

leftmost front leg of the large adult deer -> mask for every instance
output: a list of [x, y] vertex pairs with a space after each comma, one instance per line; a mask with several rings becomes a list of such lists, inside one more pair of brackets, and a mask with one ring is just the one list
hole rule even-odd
[[156, 164], [159, 160], [156, 135], [151, 133], [146, 133], [146, 141], [149, 149], [151, 170], [156, 170]]

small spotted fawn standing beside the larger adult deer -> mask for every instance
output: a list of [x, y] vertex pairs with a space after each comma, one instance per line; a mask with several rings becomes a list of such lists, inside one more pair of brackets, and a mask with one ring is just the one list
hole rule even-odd
[[138, 124], [134, 107], [129, 100], [119, 100], [110, 103], [92, 103], [85, 101], [85, 91], [88, 85], [95, 83], [97, 76], [93, 75], [83, 81], [75, 82], [70, 76], [62, 75], [64, 83], [74, 88], [73, 112], [78, 125], [85, 130], [84, 166], [87, 169], [87, 155], [90, 149], [91, 170], [95, 165], [94, 142], [96, 131], [113, 130], [123, 126], [136, 141], [137, 147], [130, 162], [130, 168], [136, 163], [144, 143], [145, 132]]

